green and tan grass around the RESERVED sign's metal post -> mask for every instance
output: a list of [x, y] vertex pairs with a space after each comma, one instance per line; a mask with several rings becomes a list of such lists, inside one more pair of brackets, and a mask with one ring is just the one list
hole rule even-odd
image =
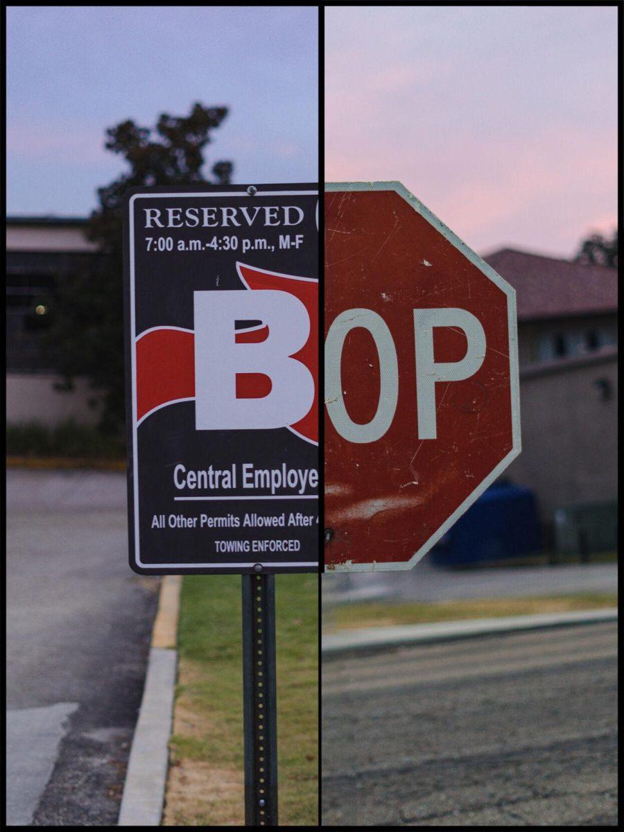
[[[240, 576], [192, 576], [182, 585], [166, 825], [242, 823], [240, 583]], [[280, 825], [317, 825], [317, 576], [276, 576], [275, 606]], [[174, 783], [178, 765], [186, 786]], [[239, 785], [215, 802], [206, 802], [206, 789], [190, 800], [194, 766], [230, 772]]]

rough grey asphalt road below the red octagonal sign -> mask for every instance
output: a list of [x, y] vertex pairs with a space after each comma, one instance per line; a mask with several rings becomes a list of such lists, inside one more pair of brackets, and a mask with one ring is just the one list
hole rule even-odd
[[617, 825], [617, 624], [323, 662], [323, 825]]

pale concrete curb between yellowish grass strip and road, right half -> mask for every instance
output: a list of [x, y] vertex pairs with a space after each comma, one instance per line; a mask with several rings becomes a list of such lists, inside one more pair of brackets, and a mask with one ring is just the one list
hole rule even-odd
[[344, 653], [373, 652], [412, 644], [430, 644], [435, 641], [453, 641], [508, 632], [541, 630], [544, 627], [613, 621], [617, 621], [617, 607], [534, 616], [478, 618], [473, 621], [436, 624], [367, 627], [324, 636], [321, 650], [324, 657], [330, 658], [344, 655]]

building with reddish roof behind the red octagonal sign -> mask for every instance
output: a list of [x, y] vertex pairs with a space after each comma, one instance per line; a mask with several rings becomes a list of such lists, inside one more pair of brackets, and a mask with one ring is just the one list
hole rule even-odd
[[[617, 499], [617, 270], [503, 249], [518, 302], [522, 453], [505, 476], [557, 509]], [[614, 509], [615, 510], [615, 509]]]

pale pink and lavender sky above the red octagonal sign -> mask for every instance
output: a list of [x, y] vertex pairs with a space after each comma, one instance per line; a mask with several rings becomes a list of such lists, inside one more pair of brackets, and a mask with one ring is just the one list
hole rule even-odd
[[468, 245], [617, 225], [615, 7], [329, 7], [325, 180], [398, 179]]

